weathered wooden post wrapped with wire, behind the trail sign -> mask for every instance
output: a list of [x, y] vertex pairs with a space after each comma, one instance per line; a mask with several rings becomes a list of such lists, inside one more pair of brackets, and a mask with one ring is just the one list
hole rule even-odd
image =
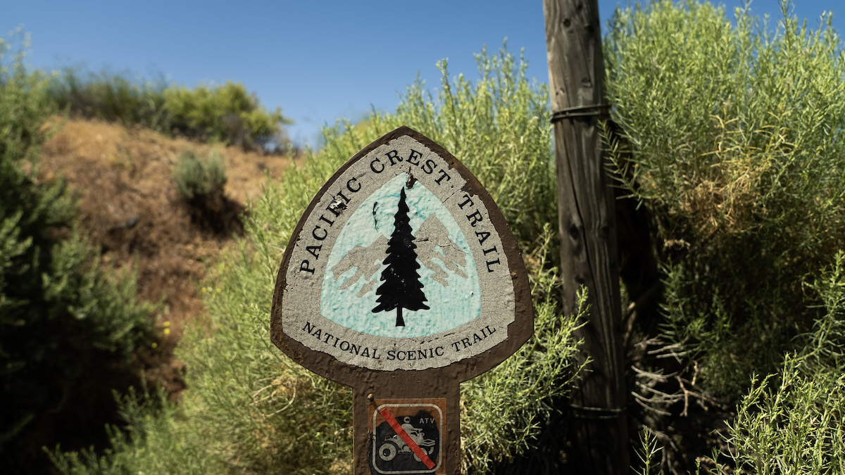
[[602, 160], [598, 120], [604, 64], [597, 0], [543, 0], [558, 170], [561, 272], [565, 310], [589, 292], [589, 319], [576, 336], [588, 373], [571, 398], [570, 463], [575, 473], [630, 471], [621, 345], [619, 257], [613, 191]]

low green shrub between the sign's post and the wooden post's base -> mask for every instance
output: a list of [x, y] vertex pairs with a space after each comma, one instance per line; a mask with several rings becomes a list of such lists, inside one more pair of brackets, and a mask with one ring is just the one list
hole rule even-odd
[[[548, 255], [554, 228], [542, 237], [541, 260]], [[507, 466], [516, 456], [525, 456], [537, 446], [537, 434], [558, 414], [552, 402], [569, 393], [575, 377], [572, 331], [587, 318], [586, 292], [579, 294], [577, 315], [559, 314], [560, 281], [556, 269], [532, 271], [534, 336], [513, 356], [493, 371], [461, 386], [461, 452], [463, 473], [493, 472]], [[517, 462], [516, 472], [554, 473], [546, 467], [526, 467]]]

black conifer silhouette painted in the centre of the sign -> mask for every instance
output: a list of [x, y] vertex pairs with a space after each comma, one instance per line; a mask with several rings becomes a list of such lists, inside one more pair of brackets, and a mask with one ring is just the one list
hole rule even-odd
[[373, 314], [395, 308], [396, 326], [405, 326], [402, 308], [428, 310], [428, 305], [423, 303], [426, 302], [423, 282], [420, 282], [420, 276], [417, 274], [420, 265], [417, 262], [417, 251], [414, 250], [417, 244], [414, 244], [410, 221], [403, 186], [399, 196], [399, 210], [393, 217], [393, 234], [387, 242], [387, 257], [384, 258], [387, 267], [381, 272], [381, 280], [384, 283], [375, 291], [379, 296], [376, 299], [379, 305], [373, 308]]

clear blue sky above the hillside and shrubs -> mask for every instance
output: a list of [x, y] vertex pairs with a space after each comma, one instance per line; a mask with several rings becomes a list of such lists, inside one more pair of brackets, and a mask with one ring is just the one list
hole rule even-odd
[[[299, 145], [315, 145], [319, 127], [337, 118], [394, 110], [417, 74], [428, 88], [439, 87], [435, 63], [442, 58], [450, 75], [475, 77], [473, 53], [485, 45], [498, 50], [504, 38], [511, 52], [524, 48], [528, 75], [548, 82], [541, 0], [2, 3], [0, 34], [24, 25], [31, 66], [163, 74], [188, 86], [243, 82], [264, 106], [281, 106], [296, 122], [288, 133]], [[733, 9], [744, 0], [720, 3]], [[812, 27], [832, 11], [842, 35], [841, 3], [796, 3], [794, 14]], [[599, 0], [602, 29], [617, 4]], [[781, 15], [777, 0], [756, 0], [751, 10]]]

